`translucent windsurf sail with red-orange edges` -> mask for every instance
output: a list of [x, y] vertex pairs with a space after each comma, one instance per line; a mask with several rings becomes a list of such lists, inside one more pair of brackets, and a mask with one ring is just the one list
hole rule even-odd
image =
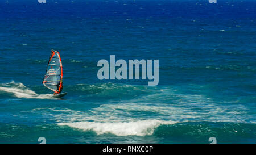
[[62, 90], [63, 70], [60, 53], [52, 49], [49, 57], [46, 74], [44, 75], [43, 85], [48, 89], [59, 94]]

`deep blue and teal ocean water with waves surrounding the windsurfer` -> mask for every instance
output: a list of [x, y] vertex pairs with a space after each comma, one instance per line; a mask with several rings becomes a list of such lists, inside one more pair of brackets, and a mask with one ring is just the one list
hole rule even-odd
[[[0, 2], [0, 143], [256, 143], [256, 1]], [[42, 85], [51, 49], [63, 99]], [[159, 60], [159, 85], [98, 60]]]

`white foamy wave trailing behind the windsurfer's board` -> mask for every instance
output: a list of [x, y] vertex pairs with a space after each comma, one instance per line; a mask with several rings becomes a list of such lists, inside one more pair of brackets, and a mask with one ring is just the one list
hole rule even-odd
[[35, 91], [28, 89], [23, 83], [14, 81], [0, 84], [0, 91], [11, 93], [17, 98], [55, 99], [52, 94], [36, 94]]

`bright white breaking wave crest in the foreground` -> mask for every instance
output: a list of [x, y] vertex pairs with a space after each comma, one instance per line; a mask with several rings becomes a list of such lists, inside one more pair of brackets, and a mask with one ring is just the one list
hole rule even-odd
[[112, 133], [117, 136], [146, 136], [152, 135], [154, 129], [161, 124], [175, 124], [174, 121], [164, 120], [138, 120], [134, 122], [72, 122], [57, 123], [58, 125], [68, 125], [72, 128], [84, 131], [95, 131], [98, 135]]

